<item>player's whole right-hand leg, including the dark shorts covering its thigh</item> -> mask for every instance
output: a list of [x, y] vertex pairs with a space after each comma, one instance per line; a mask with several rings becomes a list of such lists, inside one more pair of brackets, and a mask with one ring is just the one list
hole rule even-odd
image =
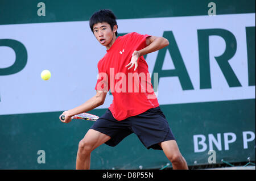
[[174, 169], [188, 169], [160, 107], [151, 108], [129, 119], [132, 121], [134, 133], [147, 149], [162, 149], [172, 162]]

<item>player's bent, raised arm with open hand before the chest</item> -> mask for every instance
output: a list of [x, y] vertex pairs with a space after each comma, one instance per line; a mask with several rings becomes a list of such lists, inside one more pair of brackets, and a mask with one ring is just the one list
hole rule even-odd
[[162, 49], [166, 46], [169, 45], [169, 41], [167, 39], [165, 39], [164, 37], [158, 37], [158, 36], [148, 36], [146, 37], [146, 47], [137, 51], [135, 50], [132, 54], [132, 57], [131, 57], [131, 61], [127, 66], [130, 66], [128, 68], [131, 69], [134, 67], [134, 71], [137, 69], [138, 67], [138, 59], [139, 57], [145, 55], [145, 54], [148, 54], [148, 53], [151, 53], [151, 52], [155, 52], [159, 49]]

